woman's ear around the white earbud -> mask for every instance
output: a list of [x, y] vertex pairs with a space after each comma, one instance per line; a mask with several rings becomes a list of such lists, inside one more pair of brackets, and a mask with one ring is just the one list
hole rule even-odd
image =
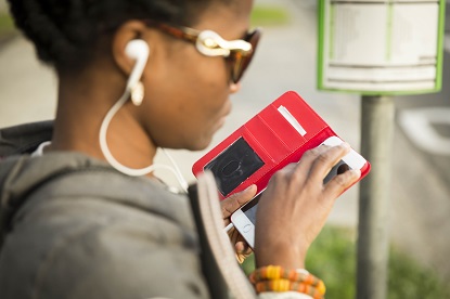
[[136, 39], [142, 39], [145, 36], [145, 30], [147, 30], [147, 27], [142, 22], [129, 21], [124, 23], [114, 35], [112, 41], [113, 58], [126, 77], [130, 76], [137, 64], [137, 56], [130, 55], [130, 47], [128, 47], [127, 52], [127, 46]]

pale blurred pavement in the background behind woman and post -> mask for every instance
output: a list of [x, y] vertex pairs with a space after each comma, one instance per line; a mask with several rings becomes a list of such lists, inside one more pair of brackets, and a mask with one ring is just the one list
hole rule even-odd
[[[256, 57], [244, 77], [243, 88], [239, 94], [233, 95], [233, 112], [227, 125], [216, 134], [211, 146], [282, 93], [294, 90], [358, 151], [360, 98], [355, 94], [324, 93], [316, 89], [316, 1], [256, 1], [261, 2], [287, 8], [292, 21], [285, 26], [265, 28]], [[0, 72], [0, 127], [53, 118], [55, 78], [50, 69], [36, 62], [34, 50], [27, 41], [15, 38], [2, 46], [0, 67], [3, 70]], [[445, 69], [447, 81], [449, 70], [449, 67]], [[439, 103], [450, 106], [450, 92], [436, 96], [447, 96]], [[407, 100], [396, 101], [398, 112], [411, 105], [426, 106], [429, 103], [425, 96]], [[450, 162], [450, 157], [436, 157], [423, 152], [399, 127], [396, 129], [394, 145], [391, 240], [417, 261], [435, 268], [450, 278], [450, 169], [437, 171], [435, 166]], [[169, 152], [188, 181], [192, 182], [192, 164], [209, 148], [197, 153]], [[436, 159], [437, 162], [433, 162]], [[168, 162], [159, 155], [157, 160]], [[167, 177], [167, 173], [156, 173], [176, 185], [173, 178]], [[357, 229], [358, 186], [347, 191], [337, 200], [329, 222]]]

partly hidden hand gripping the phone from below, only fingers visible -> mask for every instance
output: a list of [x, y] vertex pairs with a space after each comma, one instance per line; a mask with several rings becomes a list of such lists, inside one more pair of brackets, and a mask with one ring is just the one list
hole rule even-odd
[[[220, 202], [224, 226], [230, 224], [230, 217], [234, 211], [240, 209], [246, 203], [252, 200], [253, 197], [255, 197], [256, 191], [256, 185], [250, 185], [246, 190], [235, 193]], [[247, 258], [253, 252], [252, 248], [244, 240], [244, 238], [241, 236], [236, 229], [232, 227], [228, 232], [228, 235], [230, 237], [231, 243], [234, 244], [234, 250], [236, 252], [237, 261], [240, 263], [244, 262], [245, 258]]]

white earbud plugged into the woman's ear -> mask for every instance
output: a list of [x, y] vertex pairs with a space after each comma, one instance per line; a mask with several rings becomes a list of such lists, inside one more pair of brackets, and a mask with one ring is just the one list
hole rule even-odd
[[144, 70], [146, 61], [149, 58], [149, 44], [142, 39], [131, 40], [125, 48], [125, 53], [128, 57], [136, 60], [134, 67], [132, 68], [127, 82], [127, 90], [130, 90], [141, 79], [142, 72]]

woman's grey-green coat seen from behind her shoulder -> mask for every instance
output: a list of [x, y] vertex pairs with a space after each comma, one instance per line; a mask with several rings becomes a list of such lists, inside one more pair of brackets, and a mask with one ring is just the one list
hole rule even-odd
[[52, 153], [3, 160], [0, 190], [2, 299], [209, 297], [189, 199], [160, 182]]

